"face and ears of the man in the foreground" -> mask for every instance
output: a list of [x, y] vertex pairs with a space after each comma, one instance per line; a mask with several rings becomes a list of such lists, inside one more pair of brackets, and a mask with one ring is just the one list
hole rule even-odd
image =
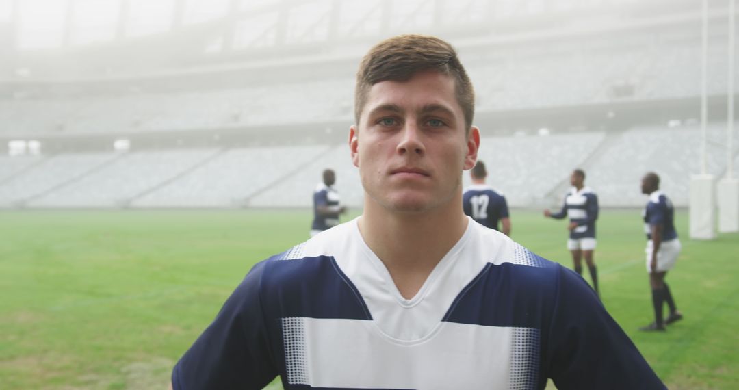
[[391, 211], [420, 213], [449, 205], [462, 170], [477, 160], [480, 133], [466, 134], [454, 79], [418, 72], [409, 81], [369, 89], [350, 148], [364, 191]]

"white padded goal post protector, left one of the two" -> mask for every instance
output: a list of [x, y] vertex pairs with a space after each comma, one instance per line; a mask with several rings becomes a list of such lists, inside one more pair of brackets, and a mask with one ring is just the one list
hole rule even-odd
[[689, 233], [691, 239], [716, 238], [716, 203], [713, 175], [690, 178]]

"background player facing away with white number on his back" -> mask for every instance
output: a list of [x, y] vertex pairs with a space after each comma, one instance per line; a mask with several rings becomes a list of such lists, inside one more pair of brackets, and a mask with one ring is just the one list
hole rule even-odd
[[500, 220], [500, 224], [503, 225], [503, 230], [500, 231], [506, 236], [511, 236], [508, 204], [505, 202], [505, 196], [485, 184], [485, 178], [488, 176], [485, 163], [477, 161], [469, 175], [472, 178], [472, 185], [465, 188], [462, 194], [464, 213], [471, 216], [475, 222], [495, 230], [498, 230]]

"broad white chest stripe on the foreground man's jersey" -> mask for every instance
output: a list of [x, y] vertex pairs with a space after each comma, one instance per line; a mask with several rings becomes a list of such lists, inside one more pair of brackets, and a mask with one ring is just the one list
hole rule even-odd
[[531, 369], [517, 362], [538, 353], [536, 329], [443, 322], [429, 337], [403, 342], [381, 335], [373, 321], [286, 320], [288, 383], [313, 387], [510, 389], [511, 372]]

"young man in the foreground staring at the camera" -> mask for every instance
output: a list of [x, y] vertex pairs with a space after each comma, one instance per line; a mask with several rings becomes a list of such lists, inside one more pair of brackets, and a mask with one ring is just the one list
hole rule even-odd
[[175, 389], [664, 389], [582, 278], [464, 215], [473, 108], [446, 42], [370, 49], [349, 135], [364, 213], [256, 264]]

